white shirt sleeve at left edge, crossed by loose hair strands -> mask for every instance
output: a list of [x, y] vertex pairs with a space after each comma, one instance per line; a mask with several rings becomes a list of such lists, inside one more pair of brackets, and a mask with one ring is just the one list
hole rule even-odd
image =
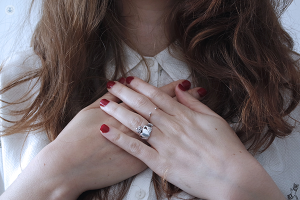
[[[40, 61], [37, 56], [33, 55], [32, 50], [27, 52], [16, 53], [13, 57], [6, 61], [4, 67], [0, 73], [0, 85], [1, 87], [18, 77], [19, 75], [28, 72], [31, 69], [38, 67]], [[20, 99], [26, 94], [30, 88], [32, 88], [36, 80], [27, 81], [19, 86], [16, 86], [9, 91], [1, 95], [1, 100], [6, 102], [13, 102]], [[27, 97], [33, 95], [34, 98], [37, 91], [38, 85], [34, 88], [34, 91], [30, 92]], [[32, 100], [18, 103], [13, 106], [9, 106], [1, 109], [1, 117], [5, 119], [15, 121], [20, 119], [20, 115], [10, 116], [7, 113], [10, 110], [19, 110], [29, 105]], [[4, 105], [1, 102], [1, 107]], [[1, 128], [3, 126], [9, 126], [10, 123], [1, 119]], [[25, 140], [26, 138], [26, 140]], [[1, 137], [1, 158], [3, 172], [3, 189], [6, 189], [13, 180], [18, 176], [21, 170], [29, 163], [29, 161], [46, 145], [49, 140], [47, 139], [44, 132], [28, 132], [27, 134], [13, 134], [9, 136]]]

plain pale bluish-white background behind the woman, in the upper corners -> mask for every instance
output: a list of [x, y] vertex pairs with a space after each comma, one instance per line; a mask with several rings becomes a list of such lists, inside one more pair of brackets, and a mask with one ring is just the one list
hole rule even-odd
[[[26, 49], [39, 17], [39, 2], [35, 0], [27, 17], [31, 0], [0, 0], [0, 62], [13, 51]], [[300, 0], [294, 0], [282, 16], [282, 23], [300, 52]]]

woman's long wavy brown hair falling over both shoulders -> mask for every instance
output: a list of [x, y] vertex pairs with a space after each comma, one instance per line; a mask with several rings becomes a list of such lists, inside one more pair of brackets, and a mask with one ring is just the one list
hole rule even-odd
[[[33, 2], [33, 1], [32, 1]], [[43, 0], [32, 45], [41, 67], [14, 80], [3, 93], [37, 78], [41, 86], [23, 117], [6, 135], [43, 128], [50, 140], [83, 107], [104, 92], [107, 49], [118, 74], [124, 75], [122, 33], [116, 0]], [[278, 18], [288, 0], [177, 0], [165, 20], [170, 43], [178, 41], [193, 81], [207, 89], [202, 100], [232, 124], [252, 154], [275, 137], [291, 133], [286, 116], [299, 102], [298, 54]], [[6, 102], [15, 104], [18, 102]], [[157, 197], [180, 190], [153, 175]], [[121, 199], [130, 179], [118, 183]], [[163, 192], [164, 191], [164, 192]], [[110, 187], [83, 193], [79, 199], [112, 199]]]

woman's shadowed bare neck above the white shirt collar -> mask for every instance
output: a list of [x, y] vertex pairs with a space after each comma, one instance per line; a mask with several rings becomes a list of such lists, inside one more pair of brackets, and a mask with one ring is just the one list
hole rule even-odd
[[128, 45], [144, 56], [154, 56], [169, 45], [161, 19], [172, 3], [173, 0], [121, 0]]

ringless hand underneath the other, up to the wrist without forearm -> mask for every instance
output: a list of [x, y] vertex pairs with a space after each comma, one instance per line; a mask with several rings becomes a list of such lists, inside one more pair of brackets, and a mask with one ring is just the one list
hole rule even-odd
[[[182, 83], [182, 80], [174, 81], [159, 88], [159, 90], [166, 92], [168, 97], [175, 99], [175, 86], [179, 82]], [[184, 84], [186, 89], [190, 87], [188, 83], [187, 81], [187, 84]], [[198, 98], [200, 97], [196, 88], [190, 89], [189, 92]], [[120, 102], [111, 93], [106, 93], [82, 109], [53, 142], [55, 145], [51, 152], [57, 152], [55, 161], [63, 163], [59, 168], [65, 168], [63, 174], [68, 175], [69, 179], [74, 179], [72, 184], [73, 186], [77, 185], [77, 190], [85, 191], [110, 186], [147, 168], [141, 160], [99, 134], [100, 125], [109, 123], [127, 136], [141, 140], [135, 132], [99, 108], [99, 104], [102, 106], [105, 104], [102, 99], [108, 99], [114, 103]], [[119, 103], [119, 106], [133, 111], [124, 103]], [[143, 142], [146, 143], [145, 140]], [[65, 154], [61, 154], [60, 149], [62, 148], [67, 149]], [[70, 156], [70, 153], [75, 153], [76, 156]], [[63, 160], [68, 160], [68, 165]], [[71, 168], [71, 171], [69, 171], [70, 165], [75, 166]]]

